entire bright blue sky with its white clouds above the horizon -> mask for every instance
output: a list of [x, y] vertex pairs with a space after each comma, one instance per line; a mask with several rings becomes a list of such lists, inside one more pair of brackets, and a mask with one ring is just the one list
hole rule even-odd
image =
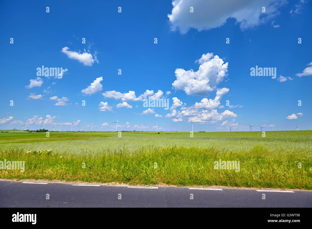
[[[156, 120], [161, 131], [191, 131], [188, 120], [195, 132], [310, 130], [311, 9], [307, 0], [2, 1], [0, 129], [70, 131], [77, 120], [76, 130], [115, 131], [119, 119], [128, 131], [155, 131]], [[42, 65], [65, 72], [38, 76]], [[276, 78], [251, 76], [256, 65]], [[144, 107], [149, 96], [169, 109]]]

